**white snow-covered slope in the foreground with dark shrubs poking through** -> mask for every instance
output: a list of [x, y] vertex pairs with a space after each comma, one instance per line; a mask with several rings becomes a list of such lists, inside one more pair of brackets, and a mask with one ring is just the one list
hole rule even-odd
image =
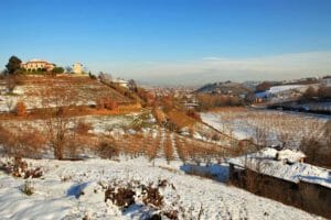
[[[178, 211], [180, 219], [319, 219], [224, 183], [186, 175], [180, 162], [150, 163], [145, 157], [26, 162], [31, 167], [41, 167], [43, 176], [23, 179], [0, 172], [0, 219], [147, 219], [154, 212], [171, 210]], [[166, 186], [160, 187], [163, 205], [158, 208], [143, 204], [139, 185], [164, 179]], [[26, 182], [33, 188], [31, 196], [21, 190]], [[114, 183], [136, 185], [135, 204], [120, 210], [110, 200], [105, 202], [104, 187]]]

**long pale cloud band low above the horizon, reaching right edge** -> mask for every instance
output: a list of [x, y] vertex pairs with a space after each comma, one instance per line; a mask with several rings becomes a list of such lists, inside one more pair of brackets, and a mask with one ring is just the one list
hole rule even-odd
[[331, 73], [331, 52], [226, 58], [202, 57], [186, 62], [148, 62], [111, 65], [108, 70], [126, 78], [159, 84], [204, 84], [217, 80], [290, 79]]

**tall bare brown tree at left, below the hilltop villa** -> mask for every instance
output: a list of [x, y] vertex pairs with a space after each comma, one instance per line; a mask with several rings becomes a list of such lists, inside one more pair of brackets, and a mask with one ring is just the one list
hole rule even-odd
[[50, 145], [55, 158], [63, 160], [65, 148], [72, 152], [71, 147], [75, 147], [77, 120], [71, 117], [71, 111], [77, 103], [76, 87], [70, 81], [50, 78], [40, 88], [40, 97]]

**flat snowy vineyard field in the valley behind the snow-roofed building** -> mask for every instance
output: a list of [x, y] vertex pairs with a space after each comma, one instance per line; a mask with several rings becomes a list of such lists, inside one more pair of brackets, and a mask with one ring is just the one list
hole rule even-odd
[[265, 141], [269, 146], [286, 144], [292, 148], [300, 145], [302, 138], [323, 139], [324, 124], [331, 120], [330, 117], [244, 108], [203, 112], [201, 119], [216, 130], [238, 140]]

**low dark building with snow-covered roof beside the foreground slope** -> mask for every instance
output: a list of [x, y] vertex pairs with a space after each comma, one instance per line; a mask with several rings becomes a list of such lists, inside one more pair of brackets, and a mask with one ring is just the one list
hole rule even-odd
[[259, 196], [331, 218], [331, 170], [301, 163], [303, 158], [299, 151], [267, 147], [229, 160], [229, 180]]

